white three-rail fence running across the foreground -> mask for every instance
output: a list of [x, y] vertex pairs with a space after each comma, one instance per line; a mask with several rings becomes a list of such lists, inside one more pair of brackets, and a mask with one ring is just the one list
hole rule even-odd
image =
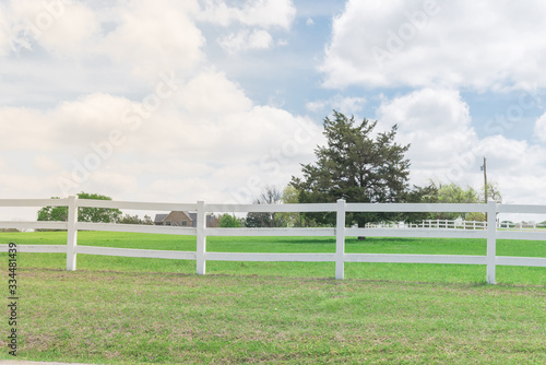
[[[162, 259], [195, 260], [197, 273], [205, 274], [206, 261], [333, 261], [335, 279], [343, 279], [345, 262], [404, 262], [404, 263], [456, 263], [485, 264], [486, 280], [495, 283], [497, 266], [546, 267], [546, 258], [507, 257], [496, 255], [497, 238], [546, 240], [546, 232], [499, 231], [496, 227], [497, 213], [546, 214], [546, 205], [497, 204], [429, 204], [429, 203], [336, 203], [319, 204], [197, 204], [130, 202], [111, 200], [86, 200], [69, 197], [66, 199], [0, 199], [0, 207], [68, 207], [68, 222], [0, 222], [0, 228], [46, 228], [67, 229], [67, 245], [17, 245], [20, 252], [63, 252], [67, 254], [67, 270], [76, 269], [78, 254], [144, 257]], [[112, 208], [152, 211], [197, 211], [197, 227], [175, 227], [154, 225], [107, 224], [78, 222], [78, 208]], [[333, 228], [210, 228], [205, 226], [206, 212], [335, 212], [336, 226]], [[487, 212], [487, 229], [392, 229], [358, 228], [345, 226], [347, 212]], [[128, 249], [92, 247], [78, 245], [78, 231], [106, 231], [159, 233], [197, 236], [197, 251], [170, 251], [151, 249]], [[335, 254], [249, 254], [207, 252], [207, 236], [335, 236]], [[436, 238], [485, 238], [486, 256], [466, 255], [395, 255], [395, 254], [345, 254], [345, 237], [436, 237]], [[0, 245], [8, 250], [8, 245]]]

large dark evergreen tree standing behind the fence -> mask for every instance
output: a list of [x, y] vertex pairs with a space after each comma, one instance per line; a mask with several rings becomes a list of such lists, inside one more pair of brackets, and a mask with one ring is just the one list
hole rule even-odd
[[[377, 121], [355, 121], [334, 110], [324, 118], [327, 145], [314, 150], [317, 162], [301, 165], [302, 178], [290, 185], [300, 202], [397, 202], [407, 189], [410, 161], [404, 153], [410, 145], [394, 142], [396, 126], [377, 132]], [[319, 224], [332, 224], [334, 214], [310, 214]], [[388, 219], [387, 214], [347, 214], [347, 223]]]

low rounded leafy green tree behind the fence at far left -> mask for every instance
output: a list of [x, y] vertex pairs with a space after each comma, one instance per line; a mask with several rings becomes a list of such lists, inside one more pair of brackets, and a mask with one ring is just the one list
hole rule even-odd
[[[96, 200], [111, 200], [110, 197], [100, 196], [98, 193], [78, 193], [79, 199], [96, 199]], [[51, 199], [59, 199], [52, 197]], [[95, 222], [95, 223], [116, 223], [121, 216], [119, 209], [111, 208], [88, 208], [80, 207], [78, 209], [79, 222]], [[38, 221], [67, 221], [68, 208], [67, 207], [44, 207], [38, 211]]]

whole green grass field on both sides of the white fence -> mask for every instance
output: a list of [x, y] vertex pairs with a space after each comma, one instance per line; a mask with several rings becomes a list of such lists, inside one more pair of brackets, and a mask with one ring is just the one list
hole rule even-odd
[[[1, 233], [0, 244], [66, 233]], [[191, 236], [81, 232], [79, 245], [194, 250]], [[334, 238], [209, 237], [209, 251], [333, 252]], [[347, 252], [485, 255], [483, 239], [347, 239]], [[546, 257], [546, 242], [500, 240]], [[1, 254], [8, 297], [8, 258]], [[546, 363], [546, 269], [19, 254], [17, 358], [96, 364]], [[8, 299], [5, 299], [8, 302]], [[8, 334], [8, 313], [2, 320]], [[0, 358], [12, 358], [0, 337]]]

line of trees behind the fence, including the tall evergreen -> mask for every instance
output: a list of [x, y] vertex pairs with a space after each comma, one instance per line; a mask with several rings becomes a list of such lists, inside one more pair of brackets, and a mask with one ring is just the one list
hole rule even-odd
[[[501, 201], [496, 184], [484, 188], [461, 187], [454, 182], [430, 180], [426, 186], [410, 186], [411, 162], [405, 157], [410, 144], [396, 143], [397, 126], [378, 131], [377, 121], [333, 111], [323, 119], [327, 144], [314, 150], [316, 162], [301, 164], [301, 176], [293, 176], [281, 191], [265, 186], [253, 201], [256, 204], [328, 203], [344, 199], [364, 203], [478, 203], [485, 202], [485, 191], [490, 200]], [[79, 193], [81, 199], [111, 199], [91, 193]], [[38, 221], [66, 221], [67, 207], [45, 207], [38, 212]], [[129, 224], [154, 224], [145, 215], [122, 215], [118, 209], [80, 208], [79, 221]], [[366, 212], [346, 214], [349, 225], [428, 219], [485, 221], [484, 213], [391, 213]], [[325, 213], [248, 213], [245, 217], [234, 214], [219, 216], [223, 227], [311, 227], [335, 225], [335, 212]]]

